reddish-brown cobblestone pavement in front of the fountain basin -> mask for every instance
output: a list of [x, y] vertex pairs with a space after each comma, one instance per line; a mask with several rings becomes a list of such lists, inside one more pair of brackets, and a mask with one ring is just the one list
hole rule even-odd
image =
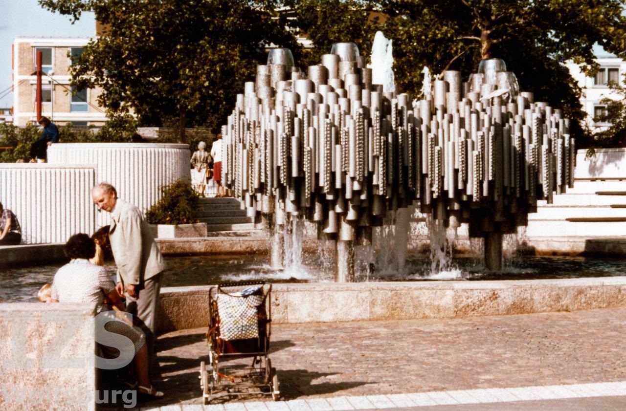
[[[167, 393], [202, 403], [205, 329], [157, 342]], [[285, 399], [626, 380], [626, 308], [461, 319], [279, 324], [270, 357]], [[250, 400], [266, 400], [253, 397]]]

